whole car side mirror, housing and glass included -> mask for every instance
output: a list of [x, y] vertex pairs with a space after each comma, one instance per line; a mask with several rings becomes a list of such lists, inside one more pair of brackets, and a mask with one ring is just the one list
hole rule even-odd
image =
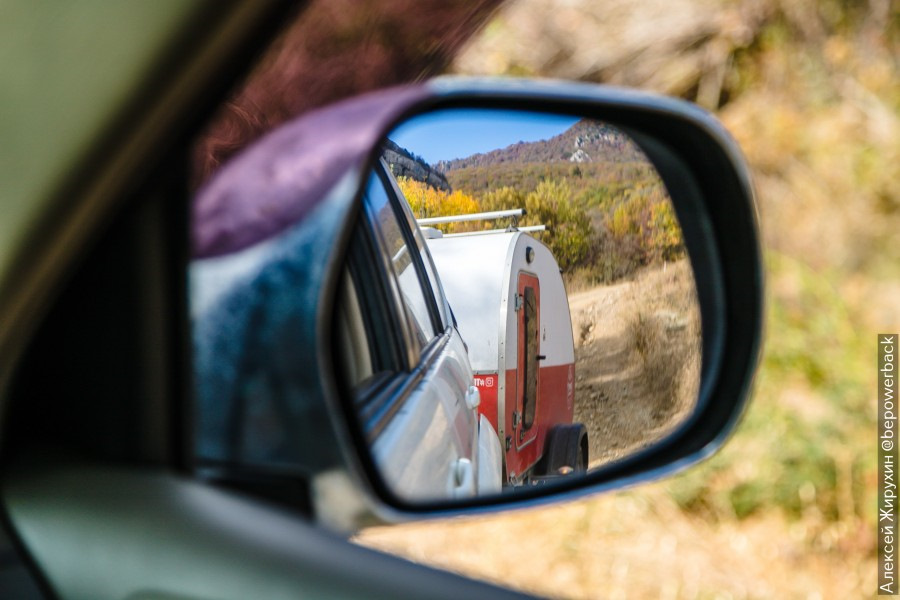
[[708, 456], [749, 392], [752, 190], [684, 102], [457, 79], [363, 97], [238, 157], [194, 232], [213, 479], [346, 469], [395, 516], [592, 493]]

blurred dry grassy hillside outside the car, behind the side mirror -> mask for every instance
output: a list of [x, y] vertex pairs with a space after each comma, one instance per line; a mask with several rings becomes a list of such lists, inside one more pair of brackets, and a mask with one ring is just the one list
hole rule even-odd
[[713, 111], [758, 191], [768, 308], [711, 460], [587, 501], [359, 543], [566, 598], [856, 598], [876, 579], [876, 334], [900, 329], [890, 0], [517, 0], [440, 70], [613, 83]]

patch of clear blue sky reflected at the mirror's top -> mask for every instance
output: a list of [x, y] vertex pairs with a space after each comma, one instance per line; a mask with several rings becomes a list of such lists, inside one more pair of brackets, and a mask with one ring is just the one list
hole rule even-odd
[[496, 109], [445, 109], [413, 117], [388, 138], [428, 163], [465, 158], [516, 142], [546, 140], [578, 117]]

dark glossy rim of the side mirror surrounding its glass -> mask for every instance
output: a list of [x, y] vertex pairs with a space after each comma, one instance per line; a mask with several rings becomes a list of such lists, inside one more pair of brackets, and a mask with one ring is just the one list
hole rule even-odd
[[[337, 400], [376, 496], [391, 512], [416, 515], [546, 502], [654, 479], [714, 453], [735, 427], [749, 396], [763, 314], [753, 189], [740, 151], [721, 124], [686, 102], [603, 86], [448, 78], [427, 88], [430, 94], [407, 107], [385, 132], [423, 112], [502, 108], [600, 119], [637, 141], [671, 195], [696, 276], [703, 333], [701, 389], [696, 412], [668, 438], [583, 479], [558, 483], [552, 491], [520, 489], [515, 499], [498, 496], [415, 506], [381, 483], [344, 394]], [[369, 160], [376, 159], [373, 151]]]

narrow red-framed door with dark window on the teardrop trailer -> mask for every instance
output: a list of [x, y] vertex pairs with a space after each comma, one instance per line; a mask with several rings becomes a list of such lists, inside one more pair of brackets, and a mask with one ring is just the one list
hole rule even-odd
[[[516, 376], [516, 415], [513, 417], [516, 447], [534, 441], [537, 404], [540, 402], [541, 355], [541, 288], [537, 277], [519, 273], [518, 313], [518, 368]], [[523, 457], [524, 458], [524, 457]], [[528, 461], [531, 462], [530, 460]], [[528, 467], [529, 465], [522, 465]]]

